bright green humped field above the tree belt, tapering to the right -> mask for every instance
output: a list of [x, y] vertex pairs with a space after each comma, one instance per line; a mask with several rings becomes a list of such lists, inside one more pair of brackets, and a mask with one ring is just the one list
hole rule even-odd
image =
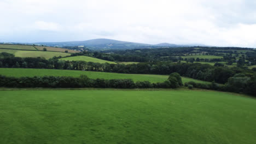
[[74, 57], [65, 57], [60, 59], [65, 61], [86, 61], [86, 62], [94, 62], [94, 63], [116, 64], [115, 62], [110, 62], [103, 59], [98, 59], [98, 58], [88, 57], [88, 56], [74, 56]]

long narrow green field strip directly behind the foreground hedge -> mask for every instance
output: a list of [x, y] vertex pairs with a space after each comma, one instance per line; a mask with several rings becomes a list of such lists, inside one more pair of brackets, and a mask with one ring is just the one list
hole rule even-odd
[[[57, 69], [23, 69], [23, 68], [0, 68], [0, 75], [5, 76], [73, 76], [87, 75], [91, 79], [132, 79], [133, 81], [149, 81], [149, 82], [164, 82], [168, 79], [168, 75], [147, 75], [147, 74], [119, 74], [119, 73], [104, 73], [96, 71], [81, 71], [81, 70], [57, 70]], [[182, 81], [210, 83], [182, 77]]]

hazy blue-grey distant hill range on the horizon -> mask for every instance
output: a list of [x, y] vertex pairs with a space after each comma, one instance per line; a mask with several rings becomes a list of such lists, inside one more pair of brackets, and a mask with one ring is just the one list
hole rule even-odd
[[139, 49], [139, 48], [156, 48], [156, 47], [185, 47], [185, 46], [198, 46], [198, 45], [176, 45], [161, 43], [156, 45], [142, 44], [142, 43], [132, 43], [128, 41], [119, 41], [113, 39], [91, 39], [84, 41], [65, 41], [65, 42], [39, 42], [30, 43], [46, 46], [85, 46], [89, 49], [94, 50], [110, 50], [110, 49]]

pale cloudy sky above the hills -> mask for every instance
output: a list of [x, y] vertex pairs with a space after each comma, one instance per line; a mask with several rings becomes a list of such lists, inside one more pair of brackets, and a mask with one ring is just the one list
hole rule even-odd
[[255, 0], [0, 0], [0, 41], [256, 47]]

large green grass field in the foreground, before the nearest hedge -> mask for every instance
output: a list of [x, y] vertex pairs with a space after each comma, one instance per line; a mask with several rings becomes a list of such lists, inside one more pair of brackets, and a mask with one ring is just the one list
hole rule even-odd
[[0, 141], [252, 144], [255, 105], [213, 91], [0, 91]]

